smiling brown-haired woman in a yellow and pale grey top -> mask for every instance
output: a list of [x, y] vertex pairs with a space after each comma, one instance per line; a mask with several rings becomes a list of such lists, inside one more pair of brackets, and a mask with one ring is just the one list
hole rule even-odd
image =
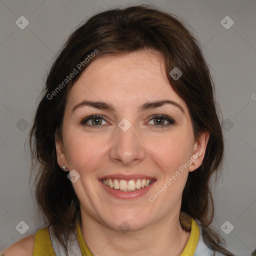
[[92, 16], [53, 63], [30, 131], [49, 225], [5, 256], [233, 255], [209, 226], [216, 107], [178, 17], [148, 5]]

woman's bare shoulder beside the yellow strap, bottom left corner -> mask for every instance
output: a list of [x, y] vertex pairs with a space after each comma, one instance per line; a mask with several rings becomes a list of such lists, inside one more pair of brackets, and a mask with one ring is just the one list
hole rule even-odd
[[34, 234], [31, 234], [10, 245], [2, 254], [4, 256], [32, 256], [33, 247]]

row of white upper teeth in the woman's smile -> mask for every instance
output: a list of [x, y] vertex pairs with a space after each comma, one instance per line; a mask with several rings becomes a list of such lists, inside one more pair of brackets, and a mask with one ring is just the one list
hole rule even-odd
[[131, 180], [124, 180], [124, 179], [112, 179], [112, 178], [106, 178], [102, 179], [103, 184], [107, 185], [108, 187], [114, 188], [114, 189], [120, 189], [120, 190], [129, 190], [134, 191], [135, 189], [139, 189], [144, 186], [148, 186], [151, 183], [151, 179], [137, 179], [136, 181], [134, 179]]

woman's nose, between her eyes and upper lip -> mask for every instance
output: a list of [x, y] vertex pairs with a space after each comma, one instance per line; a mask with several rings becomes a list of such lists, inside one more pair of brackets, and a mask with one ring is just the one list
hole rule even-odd
[[146, 146], [135, 125], [131, 125], [126, 131], [117, 126], [116, 130], [117, 134], [113, 137], [109, 149], [111, 160], [125, 166], [141, 162], [146, 155]]

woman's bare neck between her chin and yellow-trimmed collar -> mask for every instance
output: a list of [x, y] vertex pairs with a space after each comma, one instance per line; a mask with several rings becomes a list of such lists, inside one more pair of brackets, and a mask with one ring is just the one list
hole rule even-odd
[[122, 233], [81, 214], [81, 232], [93, 254], [111, 256], [178, 256], [184, 249], [190, 232], [179, 223], [179, 211], [143, 229]]

